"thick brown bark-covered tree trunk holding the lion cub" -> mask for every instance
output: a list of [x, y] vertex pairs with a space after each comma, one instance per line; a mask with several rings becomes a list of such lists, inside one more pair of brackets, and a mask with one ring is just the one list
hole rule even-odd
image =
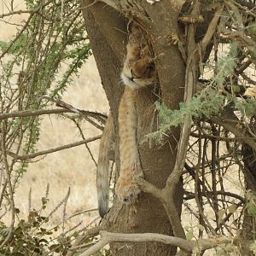
[[[161, 9], [152, 9], [149, 4], [147, 11], [153, 19], [162, 20], [158, 26], [154, 26], [150, 32], [159, 42], [154, 44], [155, 55], [161, 55], [157, 61], [157, 69], [160, 79], [161, 98], [169, 108], [178, 108], [178, 102], [183, 100], [183, 86], [185, 68], [181, 55], [176, 46], [167, 44], [168, 33], [172, 24], [172, 31], [177, 31], [177, 15], [163, 17], [166, 1], [163, 0]], [[84, 6], [90, 4], [83, 2]], [[167, 6], [167, 5], [166, 5]], [[163, 19], [164, 18], [164, 19]], [[117, 115], [119, 99], [124, 90], [120, 83], [119, 74], [123, 66], [126, 46], [126, 23], [123, 15], [120, 15], [105, 3], [95, 3], [90, 8], [84, 8], [84, 20], [91, 48], [96, 59], [96, 65], [102, 78], [102, 85], [108, 97], [109, 106], [115, 127], [117, 127]], [[157, 23], [154, 23], [157, 24]], [[159, 38], [159, 35], [161, 37]], [[175, 66], [173, 65], [175, 63]], [[145, 179], [162, 189], [166, 185], [166, 178], [172, 172], [177, 154], [178, 129], [173, 130], [163, 146], [142, 143], [144, 135], [155, 131], [154, 88], [145, 88], [138, 92], [138, 137], [139, 152], [142, 161]], [[154, 121], [153, 121], [154, 120]], [[151, 125], [152, 124], [152, 125]], [[154, 130], [152, 130], [153, 128]], [[117, 130], [117, 129], [116, 129]], [[116, 166], [119, 170], [119, 139], [116, 132]], [[177, 187], [177, 210], [181, 212], [183, 201], [182, 183]], [[118, 200], [113, 201], [113, 207], [107, 216], [108, 231], [121, 233], [154, 232], [172, 235], [172, 227], [167, 218], [164, 207], [160, 201], [150, 195], [141, 193], [135, 205], [124, 206]], [[159, 243], [114, 243], [111, 245], [112, 255], [175, 255], [176, 248]]]

